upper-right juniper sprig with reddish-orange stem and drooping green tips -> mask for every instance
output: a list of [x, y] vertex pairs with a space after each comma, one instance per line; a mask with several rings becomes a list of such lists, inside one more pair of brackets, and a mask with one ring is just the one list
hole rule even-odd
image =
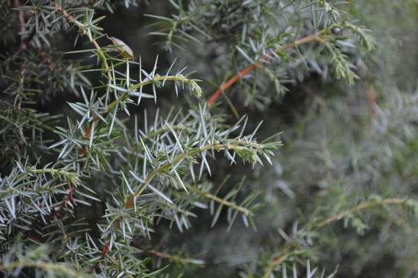
[[[200, 8], [195, 8], [198, 2]], [[235, 40], [229, 40], [228, 47], [231, 55], [228, 57], [235, 64], [233, 71], [237, 71], [236, 65], [245, 67], [245, 70], [238, 70], [238, 74], [224, 72], [222, 85], [218, 86], [219, 88], [208, 100], [209, 106], [217, 100], [224, 90], [240, 81], [242, 83], [241, 91], [247, 95], [245, 104], [254, 104], [262, 108], [265, 104], [268, 104], [268, 99], [274, 98], [274, 96], [257, 96], [254, 94], [256, 88], [259, 91], [266, 91], [267, 83], [273, 81], [277, 94], [282, 95], [288, 90], [284, 84], [297, 81], [296, 78], [288, 77], [288, 71], [291, 69], [282, 66], [286, 60], [300, 60], [295, 63], [295, 66], [300, 65], [300, 67], [311, 72], [318, 72], [318, 74], [325, 74], [327, 67], [330, 66], [334, 68], [336, 79], [346, 79], [351, 85], [354, 79], [358, 78], [354, 72], [355, 66], [347, 55], [350, 49], [357, 47], [353, 42], [360, 40], [359, 44], [362, 44], [367, 51], [373, 50], [375, 45], [375, 40], [368, 34], [367, 29], [362, 26], [355, 26], [342, 19], [341, 13], [345, 12], [339, 9], [339, 6], [343, 4], [340, 1], [330, 3], [327, 1], [310, 1], [306, 5], [299, 3], [300, 6], [293, 2], [279, 3], [279, 1], [267, 1], [258, 4], [249, 1], [234, 6], [227, 0], [219, 1], [216, 5], [210, 6], [201, 3], [201, 1], [192, 1], [192, 3], [189, 3], [188, 9], [183, 6], [182, 1], [178, 5], [171, 3], [178, 15], [172, 15], [172, 18], [150, 15], [158, 21], [150, 26], [162, 26], [164, 24], [170, 26], [150, 33], [166, 37], [164, 47], [170, 51], [172, 50], [171, 46], [182, 49], [180, 42], [187, 41], [189, 38], [195, 38], [195, 40], [201, 38], [202, 42], [210, 42], [213, 39], [212, 34], [219, 32], [216, 28], [219, 25], [218, 28], [224, 28], [229, 36], [235, 38]], [[257, 7], [257, 12], [249, 15], [254, 7]], [[219, 14], [214, 13], [214, 9]], [[276, 25], [283, 24], [284, 19], [281, 19], [279, 15], [270, 13], [270, 9], [277, 9], [281, 13], [300, 17], [300, 25], [295, 28], [289, 26], [284, 31], [280, 28], [274, 28]], [[240, 20], [237, 20], [238, 18], [245, 18], [248, 22], [240, 22]], [[212, 22], [208, 19], [212, 19]], [[237, 21], [236, 25], [230, 26], [228, 22], [233, 19]], [[311, 25], [312, 22], [315, 26], [314, 32], [307, 30], [306, 27]], [[269, 32], [260, 31], [268, 24], [272, 26]], [[288, 22], [288, 24], [291, 25], [291, 22]], [[173, 42], [175, 38], [179, 40], [178, 43]], [[289, 41], [293, 42], [289, 44]], [[324, 57], [323, 59], [312, 60], [310, 58], [312, 55], [311, 47], [302, 47], [302, 44], [311, 41], [323, 44], [322, 54], [331, 58]], [[196, 42], [199, 43], [199, 40]], [[202, 44], [202, 42], [200, 43]], [[330, 63], [319, 65], [318, 60], [329, 60]], [[248, 62], [251, 65], [247, 66]], [[273, 73], [274, 67], [277, 66], [282, 67], [279, 71], [280, 74]], [[266, 73], [268, 79], [261, 79], [258, 74], [257, 78], [249, 78], [249, 72], [258, 68]], [[229, 77], [231, 75], [232, 77]], [[229, 105], [231, 106], [231, 104]]]

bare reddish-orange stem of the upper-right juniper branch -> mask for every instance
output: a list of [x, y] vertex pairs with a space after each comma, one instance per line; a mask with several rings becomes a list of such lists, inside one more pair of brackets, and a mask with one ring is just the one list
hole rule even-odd
[[208, 106], [212, 105], [216, 99], [219, 97], [219, 95], [221, 95], [222, 92], [224, 92], [224, 90], [226, 90], [227, 88], [231, 87], [231, 85], [233, 85], [233, 83], [235, 83], [236, 81], [238, 81], [238, 79], [240, 79], [240, 77], [244, 76], [245, 74], [251, 72], [251, 70], [254, 70], [256, 67], [258, 67], [259, 65], [261, 65], [263, 60], [267, 60], [268, 58], [274, 56], [275, 53], [279, 53], [279, 52], [284, 52], [288, 49], [291, 49], [293, 47], [296, 47], [299, 44], [304, 44], [305, 42], [310, 42], [311, 40], [315, 40], [318, 35], [320, 35], [321, 33], [323, 33], [324, 31], [320, 31], [319, 33], [315, 33], [313, 35], [309, 35], [305, 38], [302, 38], [300, 40], [297, 40], [291, 44], [288, 44], [284, 47], [281, 47], [280, 49], [275, 50], [274, 52], [271, 52], [268, 55], [263, 56], [260, 60], [258, 60], [256, 63], [250, 65], [249, 67], [247, 67], [245, 70], [242, 70], [241, 72], [239, 72], [238, 74], [236, 74], [235, 76], [233, 76], [231, 79], [229, 79], [229, 81], [226, 81], [226, 83], [224, 83], [224, 85], [222, 85], [213, 95], [212, 97], [210, 97], [210, 99], [208, 100]]

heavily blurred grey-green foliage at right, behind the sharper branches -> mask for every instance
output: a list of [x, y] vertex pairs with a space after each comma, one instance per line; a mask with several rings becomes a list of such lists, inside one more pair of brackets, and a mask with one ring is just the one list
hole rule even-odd
[[[332, 213], [327, 210], [350, 208], [364, 195], [417, 197], [417, 1], [352, 0], [345, 10], [377, 41], [373, 55], [361, 63], [366, 65], [362, 80], [346, 86], [304, 74], [265, 111], [240, 110], [237, 101], [235, 108], [250, 114], [254, 125], [264, 120], [259, 137], [284, 131], [284, 147], [272, 167], [257, 165], [251, 173], [239, 165], [220, 165], [214, 171], [219, 177], [231, 174], [231, 184], [248, 173], [249, 188], [263, 190], [266, 206], [257, 213], [257, 231], [235, 224], [227, 232], [225, 224], [180, 237], [178, 242], [205, 250], [208, 259], [206, 268], [192, 276], [246, 277], [242, 264], [254, 268], [261, 253], [280, 248], [279, 229], [292, 234], [295, 221], [303, 224], [318, 206]], [[217, 60], [210, 51], [187, 50], [205, 58], [185, 64], [212, 74], [208, 61]], [[339, 265], [337, 277], [417, 277], [417, 219], [398, 213], [376, 208], [363, 215], [368, 225], [360, 234], [341, 222], [322, 229], [318, 265], [327, 270]]]

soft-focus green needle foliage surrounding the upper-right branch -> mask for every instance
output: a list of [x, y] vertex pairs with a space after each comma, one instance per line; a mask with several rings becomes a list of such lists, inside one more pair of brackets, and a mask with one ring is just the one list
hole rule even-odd
[[[222, 42], [219, 83], [261, 60], [264, 66], [256, 68], [256, 75], [245, 76], [229, 93], [243, 94], [245, 106], [258, 109], [280, 99], [286, 84], [311, 73], [352, 84], [358, 78], [353, 61], [359, 63], [362, 49], [375, 45], [368, 29], [339, 17], [339, 1], [190, 1], [190, 8], [170, 2], [176, 10], [172, 18], [148, 15], [157, 21], [149, 25], [156, 28], [150, 34], [164, 37], [169, 51], [193, 41], [199, 46], [197, 56], [207, 55], [204, 44], [218, 47]], [[306, 44], [312, 40], [317, 44]]]

